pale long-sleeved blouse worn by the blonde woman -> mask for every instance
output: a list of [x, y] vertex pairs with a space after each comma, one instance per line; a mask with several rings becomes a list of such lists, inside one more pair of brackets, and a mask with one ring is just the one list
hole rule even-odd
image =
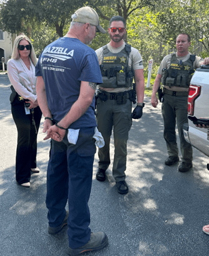
[[36, 77], [32, 61], [29, 70], [21, 58], [19, 60], [10, 59], [8, 61], [8, 77], [19, 95], [32, 102], [36, 101]]

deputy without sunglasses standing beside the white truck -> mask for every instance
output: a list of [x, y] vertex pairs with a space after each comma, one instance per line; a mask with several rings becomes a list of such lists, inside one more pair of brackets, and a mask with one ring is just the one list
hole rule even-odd
[[191, 45], [191, 38], [188, 34], [182, 33], [176, 38], [176, 53], [166, 55], [161, 61], [158, 75], [156, 76], [151, 104], [158, 105], [156, 92], [163, 84], [162, 115], [164, 120], [164, 139], [166, 141], [168, 158], [165, 164], [171, 166], [179, 161], [178, 146], [176, 143], [175, 126], [177, 121], [178, 134], [180, 137], [180, 149], [182, 162], [178, 171], [186, 172], [192, 168], [192, 147], [185, 141], [183, 136], [183, 124], [188, 122], [187, 102], [188, 87], [195, 69], [205, 64], [202, 58], [191, 55], [188, 48]]

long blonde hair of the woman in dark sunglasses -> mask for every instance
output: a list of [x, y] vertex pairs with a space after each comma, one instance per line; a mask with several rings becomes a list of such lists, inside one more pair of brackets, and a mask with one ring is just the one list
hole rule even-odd
[[13, 46], [13, 55], [12, 55], [12, 58], [14, 60], [19, 60], [20, 56], [19, 56], [19, 51], [18, 51], [18, 45], [19, 45], [19, 42], [21, 40], [27, 40], [28, 43], [32, 46], [31, 48], [31, 53], [29, 55], [29, 57], [31, 58], [31, 61], [33, 62], [33, 65], [36, 66], [36, 63], [37, 63], [37, 58], [36, 58], [36, 53], [34, 51], [34, 48], [33, 48], [33, 45], [31, 43], [31, 40], [29, 40], [28, 36], [26, 35], [19, 35], [15, 38], [14, 40], [14, 46]]

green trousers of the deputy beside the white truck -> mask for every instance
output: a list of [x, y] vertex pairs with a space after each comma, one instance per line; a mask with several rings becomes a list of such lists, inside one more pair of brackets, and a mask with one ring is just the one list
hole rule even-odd
[[164, 120], [164, 139], [168, 150], [168, 156], [178, 156], [178, 146], [176, 143], [176, 121], [178, 134], [180, 137], [180, 149], [182, 161], [191, 163], [192, 147], [185, 141], [183, 136], [183, 124], [188, 122], [187, 96], [173, 96], [164, 94], [162, 104], [162, 115]]

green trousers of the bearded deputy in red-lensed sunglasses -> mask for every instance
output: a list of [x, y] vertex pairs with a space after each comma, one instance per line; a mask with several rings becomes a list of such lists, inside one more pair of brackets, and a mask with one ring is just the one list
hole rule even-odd
[[110, 165], [110, 136], [113, 129], [115, 154], [113, 161], [113, 177], [115, 181], [124, 181], [126, 178], [126, 156], [128, 132], [131, 129], [132, 102], [127, 99], [126, 104], [118, 105], [116, 100], [97, 100], [96, 121], [101, 132], [105, 146], [98, 151], [99, 168], [108, 169]]

